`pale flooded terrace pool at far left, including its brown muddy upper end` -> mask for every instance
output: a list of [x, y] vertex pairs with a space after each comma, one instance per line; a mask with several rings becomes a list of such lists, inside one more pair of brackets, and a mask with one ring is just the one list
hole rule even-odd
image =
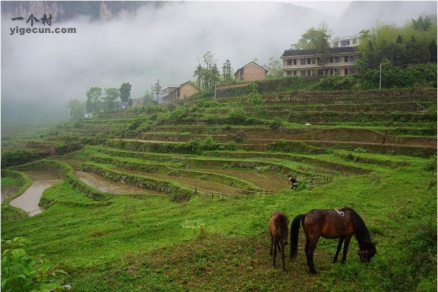
[[23, 195], [13, 199], [10, 205], [21, 208], [25, 210], [25, 212], [28, 212], [30, 216], [34, 216], [43, 211], [38, 204], [40, 203], [40, 198], [44, 190], [53, 186], [53, 184], [62, 182], [61, 176], [54, 171], [34, 170], [23, 172], [29, 175], [33, 184], [27, 188]]

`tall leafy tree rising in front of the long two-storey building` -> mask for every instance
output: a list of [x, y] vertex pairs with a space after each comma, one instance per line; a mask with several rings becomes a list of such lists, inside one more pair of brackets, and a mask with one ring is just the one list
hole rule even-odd
[[311, 27], [301, 35], [298, 42], [291, 46], [292, 49], [314, 49], [315, 56], [319, 56], [318, 64], [322, 64], [324, 72], [325, 59], [330, 56], [331, 31], [325, 23], [320, 23], [318, 28]]

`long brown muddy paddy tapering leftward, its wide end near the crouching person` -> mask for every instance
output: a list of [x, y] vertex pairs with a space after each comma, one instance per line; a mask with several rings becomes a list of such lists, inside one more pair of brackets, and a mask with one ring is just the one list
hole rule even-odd
[[192, 169], [194, 171], [204, 171], [211, 173], [222, 173], [225, 175], [231, 175], [235, 178], [241, 178], [248, 182], [253, 182], [257, 186], [263, 189], [278, 192], [284, 188], [289, 188], [289, 182], [281, 175], [274, 173], [259, 173], [257, 171], [247, 171], [240, 169]]

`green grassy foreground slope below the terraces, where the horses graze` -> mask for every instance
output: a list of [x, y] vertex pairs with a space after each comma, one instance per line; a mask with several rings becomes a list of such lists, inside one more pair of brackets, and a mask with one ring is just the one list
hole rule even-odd
[[[36, 217], [2, 224], [1, 236], [30, 239], [29, 252], [60, 263], [70, 273], [65, 282], [77, 291], [394, 290], [418, 283], [436, 289], [436, 261], [428, 257], [436, 255], [436, 174], [424, 170], [425, 160], [409, 160], [411, 167], [379, 166], [368, 175], [273, 197], [194, 197], [181, 204], [166, 197], [115, 196], [114, 204], [99, 208], [55, 204]], [[56, 197], [60, 187], [62, 197], [87, 200], [62, 185], [44, 195]], [[266, 224], [274, 210], [294, 217], [342, 206], [355, 208], [378, 242], [369, 266], [359, 263], [355, 241], [347, 264], [332, 265], [337, 243], [322, 239], [315, 254], [318, 276], [307, 273], [302, 245], [287, 275], [270, 267]]]

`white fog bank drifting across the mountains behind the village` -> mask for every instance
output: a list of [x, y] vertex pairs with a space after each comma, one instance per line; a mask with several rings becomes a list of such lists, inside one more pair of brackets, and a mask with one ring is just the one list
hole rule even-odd
[[[415, 2], [418, 9], [399, 12], [400, 23], [416, 13], [428, 12], [436, 2]], [[424, 8], [423, 8], [423, 6]], [[411, 7], [412, 5], [407, 5]], [[131, 97], [142, 97], [157, 79], [162, 86], [194, 80], [193, 72], [205, 51], [219, 67], [229, 59], [239, 69], [254, 58], [267, 64], [277, 58], [311, 26], [325, 21], [333, 36], [357, 34], [370, 28], [376, 15], [355, 16], [349, 29], [344, 19], [284, 2], [168, 2], [135, 14], [122, 12], [110, 21], [78, 17], [66, 22], [53, 19], [52, 28], [75, 27], [76, 34], [10, 35], [10, 28], [30, 27], [25, 21], [1, 19], [2, 106], [11, 99], [47, 102], [85, 100], [91, 86], [132, 84]], [[394, 15], [381, 11], [378, 16]], [[342, 17], [342, 16], [340, 16]], [[401, 17], [401, 16], [400, 16]], [[373, 21], [371, 22], [370, 19]], [[25, 19], [26, 20], [26, 19]], [[35, 27], [36, 25], [34, 25]]]

